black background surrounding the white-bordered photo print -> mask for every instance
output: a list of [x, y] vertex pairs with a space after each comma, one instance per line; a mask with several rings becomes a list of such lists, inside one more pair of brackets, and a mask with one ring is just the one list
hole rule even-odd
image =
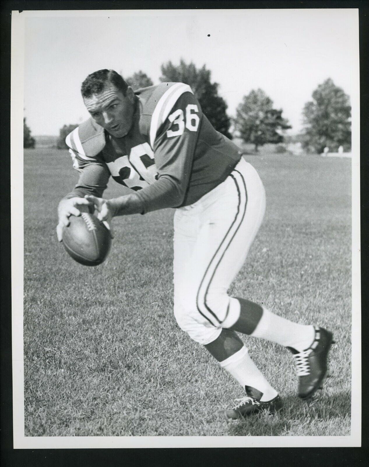
[[[368, 466], [369, 86], [368, 1], [3, 1], [0, 4], [0, 422], [3, 466]], [[12, 10], [359, 8], [361, 107], [362, 447], [188, 449], [13, 449], [10, 243], [10, 29]], [[16, 245], [14, 245], [16, 248]], [[338, 342], [339, 345], [339, 342]], [[348, 356], [349, 358], [349, 356]], [[355, 403], [355, 401], [354, 401]]]

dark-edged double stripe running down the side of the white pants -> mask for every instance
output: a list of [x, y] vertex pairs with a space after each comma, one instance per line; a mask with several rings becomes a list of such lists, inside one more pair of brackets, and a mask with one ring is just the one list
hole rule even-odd
[[[207, 296], [209, 292], [209, 288], [211, 286], [211, 281], [213, 280], [214, 276], [216, 275], [216, 270], [219, 268], [223, 256], [225, 255], [226, 251], [230, 247], [231, 242], [233, 241], [238, 229], [240, 228], [247, 208], [247, 191], [246, 191], [246, 184], [243, 175], [238, 170], [233, 170], [230, 174], [232, 177], [238, 194], [238, 204], [237, 204], [237, 212], [235, 218], [233, 219], [227, 233], [225, 234], [223, 240], [221, 241], [220, 245], [216, 249], [215, 254], [211, 258], [209, 265], [205, 271], [204, 276], [202, 277], [202, 281], [200, 283], [199, 290], [197, 291], [196, 297], [196, 304], [197, 310], [199, 313], [206, 318], [210, 324], [213, 326], [218, 326], [221, 324], [228, 315], [229, 306], [227, 308], [225, 317], [220, 319], [216, 316], [216, 313], [210, 309], [207, 304]], [[214, 324], [216, 322], [216, 324]]]

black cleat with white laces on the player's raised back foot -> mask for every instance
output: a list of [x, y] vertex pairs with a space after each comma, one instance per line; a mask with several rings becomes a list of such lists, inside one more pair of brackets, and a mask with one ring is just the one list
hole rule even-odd
[[295, 360], [299, 377], [298, 395], [306, 400], [322, 389], [322, 383], [327, 375], [328, 352], [334, 343], [333, 334], [322, 327], [315, 327], [313, 344], [303, 352], [297, 352], [288, 347]]

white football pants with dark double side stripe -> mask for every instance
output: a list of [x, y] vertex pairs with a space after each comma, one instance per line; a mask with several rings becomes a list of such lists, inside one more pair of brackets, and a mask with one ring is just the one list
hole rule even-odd
[[174, 316], [209, 344], [234, 325], [240, 304], [228, 295], [265, 213], [258, 172], [241, 158], [227, 179], [174, 214]]

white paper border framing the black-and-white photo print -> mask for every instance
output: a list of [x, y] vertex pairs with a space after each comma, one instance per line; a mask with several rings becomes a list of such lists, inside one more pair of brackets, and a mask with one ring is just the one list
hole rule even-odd
[[[351, 435], [329, 437], [32, 437], [24, 433], [23, 355], [23, 147], [24, 31], [29, 17], [97, 17], [178, 15], [181, 10], [40, 10], [12, 12], [11, 33], [11, 242], [12, 242], [12, 365], [15, 449], [50, 448], [181, 448], [181, 447], [344, 447], [361, 446], [361, 275], [360, 275], [360, 85], [359, 17], [356, 14], [357, 67], [352, 103], [352, 413]], [[210, 10], [209, 10], [210, 11]], [[211, 10], [214, 14], [218, 10]], [[220, 10], [219, 10], [220, 11]], [[228, 13], [237, 10], [226, 10]], [[301, 10], [306, 11], [306, 10]], [[206, 14], [207, 10], [186, 10]], [[220, 13], [222, 13], [220, 11]]]

